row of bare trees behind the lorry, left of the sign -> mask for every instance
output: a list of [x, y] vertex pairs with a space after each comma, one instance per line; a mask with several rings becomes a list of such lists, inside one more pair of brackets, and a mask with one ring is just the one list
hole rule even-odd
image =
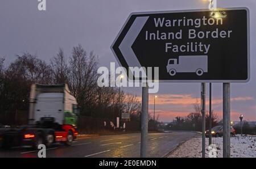
[[81, 116], [114, 119], [122, 112], [139, 117], [141, 103], [136, 95], [117, 87], [98, 87], [98, 57], [81, 46], [67, 56], [63, 49], [49, 63], [31, 53], [17, 55], [10, 65], [0, 57], [0, 114], [28, 111], [32, 83], [67, 83], [77, 99]]

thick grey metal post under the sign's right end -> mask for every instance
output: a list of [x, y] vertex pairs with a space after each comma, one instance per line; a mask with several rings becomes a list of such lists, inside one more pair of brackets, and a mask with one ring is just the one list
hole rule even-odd
[[223, 83], [223, 157], [230, 157], [230, 83]]

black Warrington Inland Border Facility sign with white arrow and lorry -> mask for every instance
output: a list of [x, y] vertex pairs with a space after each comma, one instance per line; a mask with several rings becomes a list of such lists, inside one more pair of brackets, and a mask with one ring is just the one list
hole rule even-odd
[[160, 82], [247, 82], [249, 10], [135, 12], [112, 50], [126, 70], [159, 67]]

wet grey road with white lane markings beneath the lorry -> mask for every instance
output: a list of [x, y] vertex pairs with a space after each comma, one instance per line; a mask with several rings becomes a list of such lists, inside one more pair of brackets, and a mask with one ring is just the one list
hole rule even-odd
[[[195, 132], [149, 133], [147, 157], [165, 157], [179, 143], [194, 137]], [[140, 155], [141, 134], [119, 134], [80, 138], [72, 146], [56, 145], [46, 151], [46, 157], [131, 157]], [[38, 157], [38, 151], [13, 147], [0, 150], [0, 157]]]

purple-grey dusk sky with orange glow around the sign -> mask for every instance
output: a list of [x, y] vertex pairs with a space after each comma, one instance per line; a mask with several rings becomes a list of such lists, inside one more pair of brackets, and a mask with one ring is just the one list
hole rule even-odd
[[[110, 50], [115, 37], [131, 12], [208, 9], [208, 0], [46, 0], [46, 11], [38, 10], [37, 0], [3, 0], [0, 5], [0, 56], [5, 64], [16, 54], [30, 52], [49, 62], [59, 48], [66, 56], [81, 44], [98, 55], [99, 66], [118, 64]], [[256, 1], [218, 0], [217, 7], [247, 7], [250, 10], [250, 81], [231, 84], [231, 115], [239, 121], [256, 121]], [[232, 58], [230, 58], [232, 59]], [[207, 109], [209, 108], [207, 84]], [[141, 96], [141, 87], [122, 90]], [[213, 83], [212, 109], [222, 119], [222, 84]], [[160, 83], [156, 94], [156, 115], [160, 121], [193, 112], [200, 101], [200, 83]], [[154, 94], [150, 94], [152, 113]]]

